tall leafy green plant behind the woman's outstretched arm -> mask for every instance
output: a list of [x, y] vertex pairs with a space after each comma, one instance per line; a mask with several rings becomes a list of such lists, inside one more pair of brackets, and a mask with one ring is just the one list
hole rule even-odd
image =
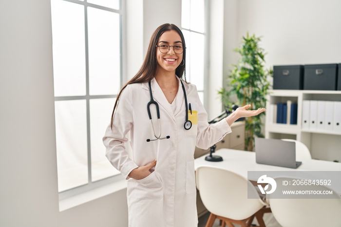
[[[225, 108], [229, 109], [234, 104], [230, 96], [236, 95], [239, 105], [250, 104], [249, 109], [265, 107], [269, 82], [267, 76], [272, 76], [272, 70], [265, 69], [265, 52], [259, 46], [260, 37], [255, 35], [242, 38], [240, 47], [234, 51], [240, 55], [237, 64], [232, 65], [231, 74], [228, 76], [230, 83], [227, 88], [222, 88], [221, 95]], [[264, 137], [262, 133], [263, 114], [246, 118], [245, 125], [245, 150], [253, 151], [254, 136]]]

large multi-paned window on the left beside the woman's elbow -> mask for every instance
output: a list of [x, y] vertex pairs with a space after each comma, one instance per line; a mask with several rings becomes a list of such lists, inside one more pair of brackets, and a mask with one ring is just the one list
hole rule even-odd
[[122, 83], [120, 0], [51, 0], [59, 192], [118, 171], [102, 137]]

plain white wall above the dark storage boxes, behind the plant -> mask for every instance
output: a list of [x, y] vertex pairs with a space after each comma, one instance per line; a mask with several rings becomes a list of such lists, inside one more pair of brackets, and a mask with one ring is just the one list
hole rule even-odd
[[337, 63], [340, 12], [340, 0], [239, 0], [236, 34], [263, 36], [267, 66]]

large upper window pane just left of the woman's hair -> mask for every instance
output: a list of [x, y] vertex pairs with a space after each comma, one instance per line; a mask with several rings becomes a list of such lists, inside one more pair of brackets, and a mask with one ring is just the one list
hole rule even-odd
[[113, 95], [120, 88], [119, 14], [88, 7], [90, 95]]

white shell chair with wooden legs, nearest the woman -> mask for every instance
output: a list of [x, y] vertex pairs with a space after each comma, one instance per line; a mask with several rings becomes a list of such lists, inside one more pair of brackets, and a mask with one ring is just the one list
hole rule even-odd
[[[263, 214], [270, 212], [267, 205], [259, 198], [254, 186], [244, 177], [217, 167], [202, 166], [196, 170], [196, 183], [204, 206], [211, 213], [206, 227], [212, 227], [216, 218], [223, 221], [222, 227], [232, 223], [241, 227], [250, 226], [256, 217], [259, 226], [265, 227]], [[252, 189], [247, 198], [248, 185]]]

